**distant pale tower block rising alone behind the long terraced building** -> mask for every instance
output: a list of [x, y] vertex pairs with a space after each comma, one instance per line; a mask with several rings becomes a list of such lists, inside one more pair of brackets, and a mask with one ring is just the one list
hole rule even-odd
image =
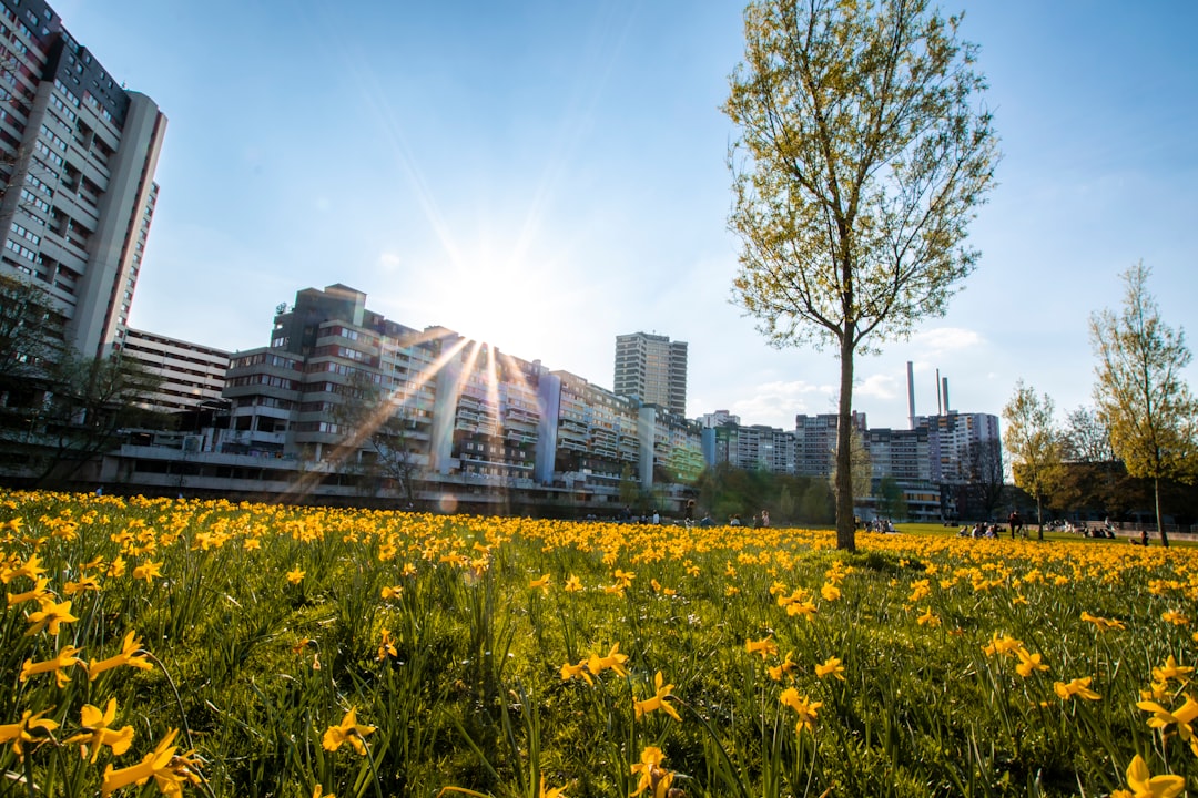
[[612, 390], [686, 415], [686, 343], [648, 333], [617, 335]]

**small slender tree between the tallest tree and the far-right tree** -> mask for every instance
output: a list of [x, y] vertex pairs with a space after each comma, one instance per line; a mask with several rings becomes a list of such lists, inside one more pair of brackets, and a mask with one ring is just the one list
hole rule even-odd
[[1003, 408], [1003, 444], [1011, 455], [1015, 485], [1036, 502], [1037, 537], [1045, 538], [1043, 502], [1052, 492], [1061, 465], [1061, 435], [1053, 420], [1053, 401], [1036, 394], [1021, 379], [1015, 395]]

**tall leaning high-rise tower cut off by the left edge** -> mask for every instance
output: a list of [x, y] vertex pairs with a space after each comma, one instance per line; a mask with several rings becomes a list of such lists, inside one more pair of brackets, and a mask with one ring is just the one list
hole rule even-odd
[[84, 357], [122, 345], [167, 117], [42, 0], [0, 0], [0, 273], [44, 288]]

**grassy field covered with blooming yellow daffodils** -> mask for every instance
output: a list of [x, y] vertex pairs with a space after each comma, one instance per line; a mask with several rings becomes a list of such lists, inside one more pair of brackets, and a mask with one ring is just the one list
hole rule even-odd
[[0, 493], [0, 794], [1176, 796], [1193, 549]]

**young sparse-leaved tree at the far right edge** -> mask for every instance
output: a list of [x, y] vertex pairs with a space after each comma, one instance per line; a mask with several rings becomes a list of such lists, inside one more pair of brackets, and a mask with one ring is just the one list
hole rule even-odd
[[1139, 262], [1123, 274], [1123, 310], [1090, 316], [1090, 343], [1099, 359], [1094, 402], [1111, 431], [1111, 446], [1135, 477], [1150, 480], [1161, 544], [1161, 482], [1192, 483], [1198, 475], [1198, 401], [1182, 370], [1192, 358], [1185, 333], [1161, 319], [1148, 292], [1151, 270]]

